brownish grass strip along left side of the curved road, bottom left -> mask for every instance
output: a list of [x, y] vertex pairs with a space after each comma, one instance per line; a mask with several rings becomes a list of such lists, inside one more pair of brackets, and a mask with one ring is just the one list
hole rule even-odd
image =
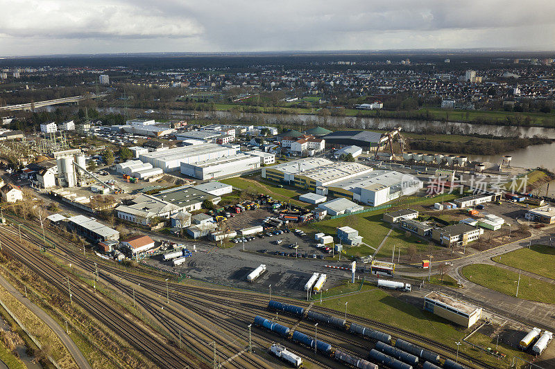
[[45, 355], [50, 355], [62, 368], [78, 368], [65, 345], [50, 327], [1, 286], [0, 300], [41, 343]]

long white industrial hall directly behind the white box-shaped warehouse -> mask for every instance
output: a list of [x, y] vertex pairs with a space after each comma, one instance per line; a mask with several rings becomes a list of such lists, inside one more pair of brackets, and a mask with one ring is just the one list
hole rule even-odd
[[180, 170], [181, 163], [194, 164], [200, 161], [218, 159], [239, 153], [239, 145], [218, 145], [216, 143], [203, 143], [185, 147], [176, 147], [160, 152], [148, 152], [139, 155], [144, 163], [151, 163], [153, 167], [162, 168], [164, 172]]

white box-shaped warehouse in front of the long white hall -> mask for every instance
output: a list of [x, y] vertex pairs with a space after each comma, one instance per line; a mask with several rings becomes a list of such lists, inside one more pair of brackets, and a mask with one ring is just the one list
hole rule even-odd
[[181, 174], [197, 179], [214, 179], [260, 167], [259, 156], [235, 154], [196, 163], [181, 163]]

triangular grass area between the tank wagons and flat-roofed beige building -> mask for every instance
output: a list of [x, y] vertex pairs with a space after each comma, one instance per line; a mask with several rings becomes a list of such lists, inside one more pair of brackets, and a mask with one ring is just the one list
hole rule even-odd
[[[341, 316], [341, 314], [345, 314], [345, 303], [348, 303], [347, 312], [349, 314], [388, 323], [403, 330], [430, 337], [435, 341], [450, 345], [452, 348], [456, 348], [454, 343], [461, 341], [463, 336], [470, 332], [470, 330], [465, 330], [464, 327], [453, 325], [439, 316], [404, 303], [402, 300], [390, 296], [386, 291], [370, 285], [364, 285], [359, 294], [324, 300], [322, 306], [336, 309], [336, 315]], [[314, 302], [314, 305], [316, 307], [319, 306], [320, 301]], [[493, 366], [499, 366], [499, 368], [504, 368], [509, 363], [509, 359], [499, 361], [490, 354], [486, 354], [466, 344], [461, 345], [460, 350], [460, 352], [470, 354], [472, 357], [486, 361]], [[514, 356], [519, 356], [530, 359], [527, 354], [519, 350], [512, 350], [509, 347], [500, 346], [499, 351], [506, 354], [507, 358], [510, 357], [512, 359]]]

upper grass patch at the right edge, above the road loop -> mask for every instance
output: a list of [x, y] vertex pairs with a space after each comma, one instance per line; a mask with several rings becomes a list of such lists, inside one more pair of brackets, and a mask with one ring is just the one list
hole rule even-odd
[[495, 256], [491, 260], [555, 279], [555, 248], [552, 246], [534, 245], [530, 249], [518, 249]]

